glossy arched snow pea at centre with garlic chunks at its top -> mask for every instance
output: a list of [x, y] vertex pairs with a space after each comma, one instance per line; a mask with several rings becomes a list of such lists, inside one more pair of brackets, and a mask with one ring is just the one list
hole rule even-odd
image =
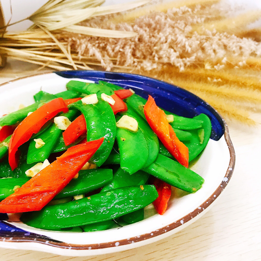
[[70, 104], [70, 108], [81, 111], [87, 126], [87, 141], [104, 137], [103, 144], [93, 155], [91, 161], [100, 167], [108, 158], [116, 136], [116, 121], [108, 102], [98, 99], [96, 104], [83, 104], [81, 100]]

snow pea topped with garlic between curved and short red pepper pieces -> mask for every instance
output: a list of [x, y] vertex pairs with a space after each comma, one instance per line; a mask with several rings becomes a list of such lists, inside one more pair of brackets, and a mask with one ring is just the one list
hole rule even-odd
[[[78, 110], [72, 109], [62, 114], [61, 116], [68, 117], [69, 120], [73, 120], [78, 114]], [[34, 139], [31, 140], [28, 153], [27, 163], [43, 162], [47, 159], [53, 151], [57, 140], [59, 139], [62, 130], [59, 129], [55, 123], [52, 123], [44, 132], [40, 133], [35, 139], [41, 139], [45, 143], [42, 147], [36, 148]]]

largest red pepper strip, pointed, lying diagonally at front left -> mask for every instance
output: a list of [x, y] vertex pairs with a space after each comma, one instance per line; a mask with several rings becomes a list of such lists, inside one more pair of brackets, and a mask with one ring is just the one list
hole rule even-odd
[[104, 137], [70, 147], [21, 188], [0, 203], [0, 213], [41, 210], [58, 194], [92, 157]]

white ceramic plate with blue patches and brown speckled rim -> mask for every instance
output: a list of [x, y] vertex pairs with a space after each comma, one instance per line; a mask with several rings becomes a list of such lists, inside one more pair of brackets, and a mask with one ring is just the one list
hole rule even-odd
[[[177, 86], [140, 75], [98, 71], [68, 71], [40, 74], [0, 86], [0, 115], [18, 109], [19, 104], [34, 102], [39, 90], [50, 93], [66, 89], [68, 78], [84, 81], [108, 81], [132, 88], [140, 96], [152, 95], [158, 106], [175, 114], [194, 117], [204, 113], [211, 119], [211, 139], [190, 168], [205, 182], [194, 194], [175, 190], [164, 215], [153, 206], [145, 210], [145, 219], [121, 228], [99, 232], [51, 232], [8, 221], [0, 214], [0, 246], [38, 250], [68, 256], [90, 256], [123, 251], [155, 242], [185, 228], [201, 217], [227, 186], [235, 164], [234, 148], [222, 117], [206, 102]], [[1, 170], [0, 170], [1, 171]], [[220, 202], [222, 204], [222, 202]]]

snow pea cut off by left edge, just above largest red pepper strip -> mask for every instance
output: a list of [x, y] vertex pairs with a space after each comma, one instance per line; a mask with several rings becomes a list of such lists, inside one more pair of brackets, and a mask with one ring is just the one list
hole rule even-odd
[[0, 201], [14, 193], [16, 186], [21, 187], [29, 178], [2, 178], [0, 179]]

